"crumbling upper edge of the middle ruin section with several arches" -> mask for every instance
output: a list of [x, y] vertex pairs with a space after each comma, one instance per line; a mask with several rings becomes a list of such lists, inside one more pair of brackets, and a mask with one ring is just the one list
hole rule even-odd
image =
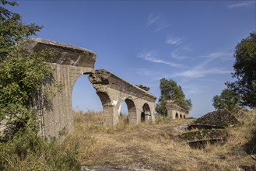
[[[97, 79], [98, 75], [101, 76], [101, 77]], [[96, 69], [94, 75], [89, 75], [89, 80], [90, 80], [90, 82], [92, 82], [93, 85], [108, 85], [108, 86], [110, 86], [111, 89], [117, 89], [113, 86], [116, 82], [109, 82], [110, 78], [115, 79], [119, 82], [124, 82], [124, 85], [129, 86], [130, 88], [132, 88], [134, 90], [135, 89], [139, 90], [140, 92], [142, 92], [142, 95], [146, 95], [150, 99], [152, 99], [151, 102], [156, 101], [156, 96], [153, 96], [152, 93], [146, 91], [145, 89], [140, 88], [139, 86], [135, 86], [135, 85], [132, 85], [129, 82], [126, 82], [124, 79], [121, 79], [117, 75], [114, 75], [114, 74], [112, 74], [111, 72], [108, 72], [105, 69]], [[106, 82], [105, 82], [105, 79], [107, 79]], [[112, 85], [111, 85], [111, 83], [112, 83]], [[118, 88], [120, 88], [120, 86], [121, 85], [118, 85]], [[117, 89], [117, 90], [121, 91], [121, 89]], [[132, 92], [134, 93], [134, 94], [132, 94], [132, 96], [137, 96], [139, 98], [145, 99], [145, 96], [138, 96], [135, 93], [135, 91], [132, 91]]]

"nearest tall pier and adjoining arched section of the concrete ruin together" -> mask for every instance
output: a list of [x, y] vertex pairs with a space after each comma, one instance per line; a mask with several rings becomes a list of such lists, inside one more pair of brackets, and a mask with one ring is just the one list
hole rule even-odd
[[51, 40], [30, 39], [26, 42], [27, 51], [45, 48], [53, 48], [57, 52], [54, 59], [47, 62], [54, 70], [54, 81], [63, 87], [52, 99], [51, 109], [40, 110], [40, 134], [44, 138], [58, 138], [60, 133], [68, 134], [74, 130], [72, 90], [76, 79], [84, 74], [89, 75], [89, 81], [100, 97], [105, 125], [117, 124], [123, 101], [128, 106], [129, 123], [155, 120], [156, 97], [144, 86], [133, 86], [106, 70], [95, 71], [96, 54], [93, 51]]

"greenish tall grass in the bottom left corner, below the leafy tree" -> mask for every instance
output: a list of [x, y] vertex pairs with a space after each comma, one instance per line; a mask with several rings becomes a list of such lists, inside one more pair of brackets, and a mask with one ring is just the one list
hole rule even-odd
[[0, 143], [0, 170], [79, 170], [78, 146], [45, 141], [26, 127]]

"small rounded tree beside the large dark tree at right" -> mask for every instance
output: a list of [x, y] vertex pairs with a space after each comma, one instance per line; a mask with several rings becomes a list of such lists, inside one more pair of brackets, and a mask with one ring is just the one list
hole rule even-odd
[[214, 96], [212, 105], [216, 110], [227, 109], [232, 113], [237, 113], [242, 108], [240, 106], [240, 96], [229, 88], [223, 89], [219, 96]]

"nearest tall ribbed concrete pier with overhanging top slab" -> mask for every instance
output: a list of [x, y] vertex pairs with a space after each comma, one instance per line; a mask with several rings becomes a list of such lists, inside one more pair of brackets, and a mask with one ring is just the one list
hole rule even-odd
[[80, 75], [94, 72], [96, 54], [81, 47], [51, 40], [30, 39], [26, 42], [28, 51], [41, 51], [44, 48], [57, 51], [54, 60], [49, 64], [54, 71], [54, 81], [63, 87], [54, 96], [51, 109], [40, 111], [40, 134], [45, 138], [57, 138], [60, 132], [68, 134], [74, 129], [72, 89]]

